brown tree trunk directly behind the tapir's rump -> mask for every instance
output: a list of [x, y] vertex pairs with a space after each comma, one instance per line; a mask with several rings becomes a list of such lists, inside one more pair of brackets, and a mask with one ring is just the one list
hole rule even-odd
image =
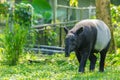
[[96, 17], [97, 19], [103, 20], [111, 30], [111, 44], [109, 51], [116, 51], [116, 46], [113, 36], [113, 27], [111, 23], [110, 14], [110, 0], [96, 0]]

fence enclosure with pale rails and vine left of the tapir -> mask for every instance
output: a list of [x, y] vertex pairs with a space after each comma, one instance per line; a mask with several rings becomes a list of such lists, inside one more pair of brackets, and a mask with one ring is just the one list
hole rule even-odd
[[94, 0], [78, 1], [78, 7], [71, 7], [69, 0], [48, 0], [52, 7], [52, 22], [33, 26], [39, 33], [37, 44], [64, 47], [63, 27], [70, 29], [76, 22], [95, 16]]

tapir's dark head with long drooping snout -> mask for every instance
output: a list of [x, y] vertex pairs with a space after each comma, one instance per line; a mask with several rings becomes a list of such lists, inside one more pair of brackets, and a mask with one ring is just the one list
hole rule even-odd
[[80, 40], [78, 39], [79, 35], [77, 32], [68, 30], [66, 27], [64, 28], [64, 30], [67, 33], [65, 38], [65, 57], [69, 57], [70, 53], [75, 50], [77, 45], [79, 45], [78, 42]]

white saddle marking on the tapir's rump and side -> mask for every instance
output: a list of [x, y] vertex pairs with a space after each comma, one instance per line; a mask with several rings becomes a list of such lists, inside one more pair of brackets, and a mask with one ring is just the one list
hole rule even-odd
[[111, 39], [111, 33], [108, 26], [101, 20], [92, 20], [97, 28], [97, 38], [95, 43], [95, 49], [101, 51], [104, 49]]

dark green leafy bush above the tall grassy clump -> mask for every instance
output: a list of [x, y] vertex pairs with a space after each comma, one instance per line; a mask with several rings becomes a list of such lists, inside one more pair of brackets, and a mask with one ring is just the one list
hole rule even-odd
[[14, 14], [16, 23], [31, 27], [33, 22], [33, 7], [30, 4], [16, 4]]

